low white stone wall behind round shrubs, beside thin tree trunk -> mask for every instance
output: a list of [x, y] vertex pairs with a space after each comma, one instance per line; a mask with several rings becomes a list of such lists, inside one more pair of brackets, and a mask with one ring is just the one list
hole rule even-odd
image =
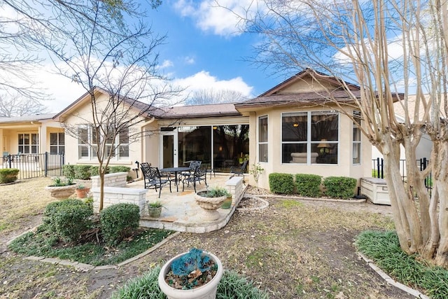
[[[100, 188], [92, 188], [93, 211], [99, 212], [99, 192]], [[103, 209], [113, 204], [137, 204], [140, 208], [140, 215], [143, 214], [146, 204], [146, 193], [148, 189], [104, 187]]]

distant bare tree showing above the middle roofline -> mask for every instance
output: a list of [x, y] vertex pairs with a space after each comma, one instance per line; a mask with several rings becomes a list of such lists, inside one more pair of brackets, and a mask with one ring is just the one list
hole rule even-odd
[[246, 97], [237, 90], [214, 90], [202, 89], [195, 90], [186, 100], [188, 105], [203, 105], [203, 104], [221, 104], [221, 103], [235, 103], [242, 102]]

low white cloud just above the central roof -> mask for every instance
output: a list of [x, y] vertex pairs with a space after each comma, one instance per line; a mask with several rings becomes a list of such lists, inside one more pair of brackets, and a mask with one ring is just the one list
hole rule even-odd
[[252, 97], [253, 87], [247, 85], [243, 78], [236, 77], [229, 80], [219, 80], [215, 76], [211, 76], [208, 71], [200, 71], [186, 78], [174, 79], [174, 85], [186, 88], [184, 95], [196, 90], [235, 90], [241, 92], [241, 95]]

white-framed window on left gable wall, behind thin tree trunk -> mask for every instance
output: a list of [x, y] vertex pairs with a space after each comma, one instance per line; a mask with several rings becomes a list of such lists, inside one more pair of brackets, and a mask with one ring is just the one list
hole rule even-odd
[[[111, 131], [112, 132], [112, 131]], [[78, 125], [78, 157], [94, 159], [97, 155], [97, 132], [91, 125]], [[99, 137], [106, 141], [106, 153], [117, 159], [129, 158], [129, 128], [118, 134], [106, 134]]]

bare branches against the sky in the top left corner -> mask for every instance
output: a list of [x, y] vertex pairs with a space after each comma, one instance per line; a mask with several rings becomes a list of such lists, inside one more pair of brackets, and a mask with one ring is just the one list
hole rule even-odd
[[[160, 0], [146, 2], [153, 8], [162, 3]], [[97, 4], [102, 4], [102, 22], [93, 20], [88, 13]], [[33, 76], [33, 71], [44, 62], [43, 44], [55, 45], [55, 38], [63, 35], [66, 24], [59, 19], [61, 15], [71, 15], [91, 24], [96, 22], [110, 32], [118, 32], [124, 15], [144, 15], [133, 0], [5, 0], [0, 2], [0, 9], [0, 96], [8, 99], [20, 95], [29, 99], [22, 104], [29, 104], [30, 111], [35, 110], [36, 102], [48, 99], [48, 92], [39, 88], [39, 79]]]

